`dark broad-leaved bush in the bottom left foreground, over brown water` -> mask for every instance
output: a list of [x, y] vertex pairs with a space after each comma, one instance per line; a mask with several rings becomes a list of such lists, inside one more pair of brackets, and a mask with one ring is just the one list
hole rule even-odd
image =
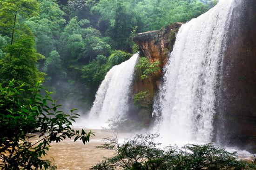
[[[49, 162], [42, 159], [53, 142], [61, 142], [66, 138], [75, 137], [74, 141], [89, 142], [91, 131], [74, 131], [72, 122], [78, 118], [71, 110], [71, 114], [59, 111], [61, 105], [51, 98], [51, 92], [46, 96], [40, 95], [44, 90], [40, 83], [35, 88], [28, 89], [33, 96], [29, 104], [22, 102], [25, 91], [24, 84], [12, 80], [7, 86], [0, 84], [0, 167], [3, 169], [45, 169]], [[32, 138], [38, 134], [39, 139]]]

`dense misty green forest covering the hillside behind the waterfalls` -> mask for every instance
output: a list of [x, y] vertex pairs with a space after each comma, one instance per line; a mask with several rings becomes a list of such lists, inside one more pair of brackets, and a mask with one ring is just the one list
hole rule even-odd
[[0, 82], [42, 80], [61, 103], [89, 108], [108, 70], [138, 50], [131, 37], [186, 22], [217, 0], [1, 0]]

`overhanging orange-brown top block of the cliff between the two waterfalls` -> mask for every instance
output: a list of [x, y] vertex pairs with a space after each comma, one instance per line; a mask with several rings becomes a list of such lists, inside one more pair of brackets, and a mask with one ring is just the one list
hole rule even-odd
[[182, 23], [174, 23], [158, 31], [139, 33], [133, 37], [133, 41], [140, 46], [151, 63], [161, 61], [163, 68], [168, 60], [168, 53], [172, 51], [175, 43], [175, 35], [181, 26]]

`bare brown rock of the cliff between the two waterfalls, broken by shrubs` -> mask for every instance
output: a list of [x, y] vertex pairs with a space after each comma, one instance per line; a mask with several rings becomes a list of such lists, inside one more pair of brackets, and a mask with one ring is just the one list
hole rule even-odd
[[[142, 55], [147, 57], [151, 63], [160, 61], [160, 67], [163, 69], [168, 61], [168, 53], [172, 51], [176, 34], [181, 26], [182, 23], [174, 23], [158, 31], [139, 33], [133, 37], [133, 41], [140, 47], [143, 52]], [[156, 76], [144, 80], [140, 78], [141, 72], [135, 72], [135, 74], [134, 94], [148, 91], [149, 96], [146, 100], [153, 103], [154, 94], [158, 91], [158, 85], [162, 78], [162, 70]], [[152, 110], [141, 108], [136, 112], [145, 124], [150, 124], [152, 121]]]

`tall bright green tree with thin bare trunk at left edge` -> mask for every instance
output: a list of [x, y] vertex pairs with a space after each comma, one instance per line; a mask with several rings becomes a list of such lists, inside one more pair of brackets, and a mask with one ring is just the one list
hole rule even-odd
[[7, 84], [9, 80], [16, 78], [21, 84], [29, 87], [43, 79], [44, 74], [37, 70], [36, 63], [44, 57], [34, 49], [34, 35], [24, 22], [37, 15], [37, 9], [37, 0], [0, 2], [0, 27], [2, 33], [11, 39], [0, 60], [2, 83]]

